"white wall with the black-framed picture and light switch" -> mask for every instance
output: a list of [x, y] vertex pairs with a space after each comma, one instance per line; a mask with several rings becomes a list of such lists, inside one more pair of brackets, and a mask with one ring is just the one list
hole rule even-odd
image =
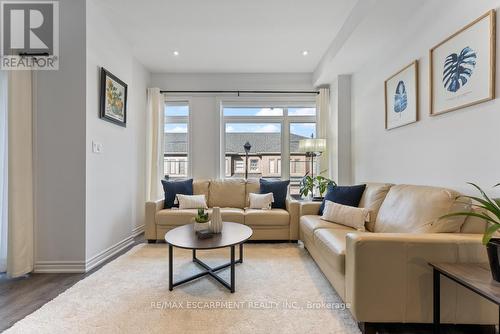
[[[129, 238], [144, 224], [146, 89], [150, 74], [87, 1], [86, 259]], [[100, 67], [128, 84], [127, 127], [99, 118]], [[102, 144], [92, 152], [92, 141]]]

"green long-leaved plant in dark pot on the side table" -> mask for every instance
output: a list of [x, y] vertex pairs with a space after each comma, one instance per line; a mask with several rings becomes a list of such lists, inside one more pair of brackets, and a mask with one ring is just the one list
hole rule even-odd
[[[477, 217], [488, 223], [488, 228], [483, 234], [483, 245], [486, 246], [488, 252], [488, 260], [490, 262], [493, 279], [500, 282], [500, 239], [493, 238], [495, 232], [500, 229], [500, 199], [490, 198], [481, 187], [474, 183], [468, 182], [468, 184], [476, 188], [481, 194], [481, 197], [461, 195], [457, 197], [457, 200], [460, 198], [472, 200], [472, 206], [480, 209], [480, 212], [455, 212], [444, 215], [441, 218], [453, 216]], [[498, 187], [499, 185], [500, 183], [496, 184], [494, 187]]]

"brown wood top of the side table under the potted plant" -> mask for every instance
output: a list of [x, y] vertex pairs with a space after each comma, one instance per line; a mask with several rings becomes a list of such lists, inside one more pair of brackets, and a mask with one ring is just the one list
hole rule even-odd
[[491, 276], [488, 263], [429, 263], [442, 275], [500, 305], [500, 282]]

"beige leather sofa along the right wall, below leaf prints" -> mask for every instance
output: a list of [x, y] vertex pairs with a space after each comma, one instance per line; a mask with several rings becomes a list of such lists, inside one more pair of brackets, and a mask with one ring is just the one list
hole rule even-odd
[[[301, 205], [300, 239], [366, 332], [373, 323], [432, 323], [428, 262], [487, 262], [478, 219], [437, 217], [468, 210], [454, 191], [424, 186], [368, 184], [360, 207], [370, 209], [366, 232], [327, 222], [320, 203]], [[436, 232], [454, 233], [436, 233]], [[441, 321], [495, 324], [498, 308], [441, 279]]]

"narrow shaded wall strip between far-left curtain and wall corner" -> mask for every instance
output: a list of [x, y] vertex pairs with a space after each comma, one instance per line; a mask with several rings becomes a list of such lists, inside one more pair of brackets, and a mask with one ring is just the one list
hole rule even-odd
[[85, 1], [59, 6], [59, 70], [34, 81], [35, 267], [85, 260]]

